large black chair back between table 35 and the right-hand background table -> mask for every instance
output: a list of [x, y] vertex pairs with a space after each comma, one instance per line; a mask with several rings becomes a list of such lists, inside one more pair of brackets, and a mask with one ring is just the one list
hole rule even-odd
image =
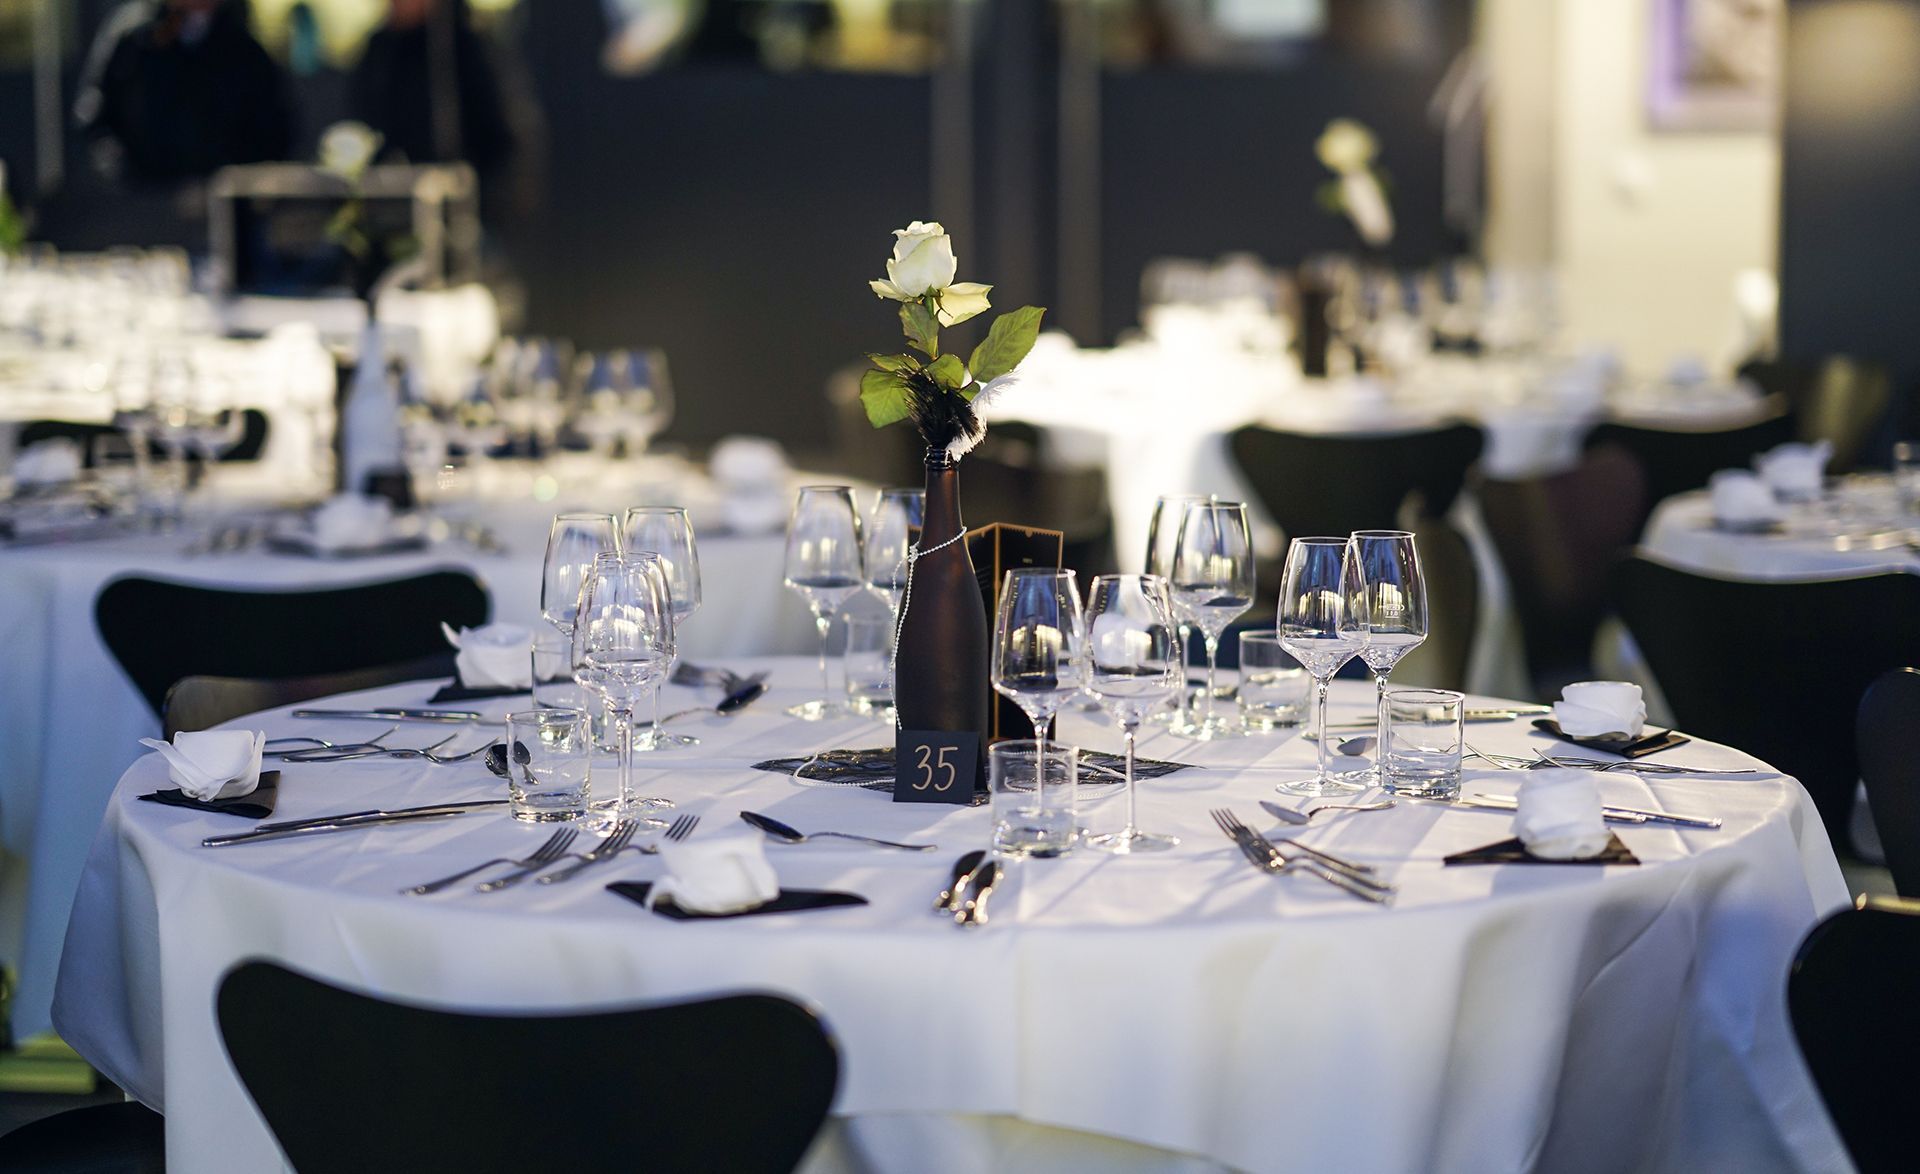
[[1613, 599], [1680, 730], [1797, 778], [1845, 845], [1855, 715], [1882, 673], [1920, 665], [1920, 575], [1741, 582], [1628, 557]]

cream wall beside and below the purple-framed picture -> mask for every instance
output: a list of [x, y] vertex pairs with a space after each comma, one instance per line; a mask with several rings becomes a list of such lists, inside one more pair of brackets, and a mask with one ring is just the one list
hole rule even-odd
[[1496, 85], [1488, 257], [1551, 257], [1567, 340], [1724, 361], [1734, 277], [1772, 271], [1778, 133], [1653, 133], [1653, 0], [1482, 0]]

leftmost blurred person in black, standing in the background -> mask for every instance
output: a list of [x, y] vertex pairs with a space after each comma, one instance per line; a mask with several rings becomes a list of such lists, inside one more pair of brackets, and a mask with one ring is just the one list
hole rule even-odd
[[88, 52], [75, 115], [102, 171], [148, 186], [284, 159], [294, 125], [244, 0], [123, 4]]

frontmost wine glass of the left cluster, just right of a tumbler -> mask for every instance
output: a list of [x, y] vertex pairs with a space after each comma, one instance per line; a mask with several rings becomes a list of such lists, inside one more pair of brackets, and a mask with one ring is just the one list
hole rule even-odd
[[574, 623], [574, 680], [599, 694], [612, 715], [620, 755], [614, 819], [636, 807], [672, 807], [634, 794], [634, 707], [674, 665], [674, 607], [655, 555], [605, 553], [580, 590]]

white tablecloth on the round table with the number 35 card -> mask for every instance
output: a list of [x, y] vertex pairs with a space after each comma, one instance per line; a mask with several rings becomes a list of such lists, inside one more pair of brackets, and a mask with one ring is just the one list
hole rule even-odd
[[[1142, 755], [1196, 769], [1144, 782], [1140, 822], [1179, 834], [1181, 845], [1016, 863], [993, 924], [962, 932], [929, 907], [952, 861], [985, 844], [989, 811], [891, 803], [751, 769], [776, 755], [883, 746], [889, 732], [864, 719], [785, 717], [814, 688], [803, 659], [737, 667], [774, 667], [774, 690], [733, 719], [687, 721], [703, 746], [641, 759], [647, 792], [703, 817], [695, 836], [733, 828], [753, 809], [803, 830], [939, 851], [768, 845], [783, 884], [870, 901], [787, 917], [676, 922], [603, 888], [659, 876], [653, 857], [622, 857], [564, 886], [403, 897], [403, 886], [530, 851], [547, 830], [486, 813], [207, 849], [204, 836], [246, 824], [136, 801], [165, 786], [163, 763], [148, 755], [121, 778], [86, 865], [56, 999], [61, 1036], [167, 1113], [169, 1161], [190, 1170], [278, 1162], [213, 1020], [221, 974], [248, 957], [468, 1009], [732, 990], [799, 997], [843, 1049], [835, 1128], [812, 1168], [1845, 1162], [1799, 1064], [1782, 991], [1801, 936], [1847, 893], [1812, 805], [1788, 778], [1601, 774], [1609, 801], [1724, 819], [1711, 832], [1619, 828], [1640, 867], [1442, 865], [1511, 834], [1509, 817], [1490, 811], [1404, 801], [1315, 820], [1309, 842], [1400, 886], [1392, 907], [1375, 907], [1309, 876], [1256, 872], [1208, 819], [1233, 807], [1271, 830], [1256, 801], [1279, 797], [1273, 784], [1311, 761], [1306, 740], [1283, 732], [1202, 746], [1156, 730]], [[419, 703], [428, 688], [349, 703]], [[668, 705], [701, 697], [712, 699], [676, 688]], [[1334, 719], [1361, 717], [1369, 701], [1369, 686], [1340, 682]], [[240, 724], [369, 732], [282, 711]], [[396, 742], [442, 732], [405, 734]], [[1062, 734], [1098, 749], [1119, 744], [1085, 713], [1066, 715]], [[1471, 726], [1488, 751], [1544, 738], [1523, 722]], [[1759, 767], [1703, 742], [1661, 757]], [[1469, 769], [1465, 790], [1513, 794], [1517, 778]], [[1117, 824], [1117, 790], [1083, 788], [1081, 822]], [[292, 765], [275, 815], [495, 795], [478, 763]]]

